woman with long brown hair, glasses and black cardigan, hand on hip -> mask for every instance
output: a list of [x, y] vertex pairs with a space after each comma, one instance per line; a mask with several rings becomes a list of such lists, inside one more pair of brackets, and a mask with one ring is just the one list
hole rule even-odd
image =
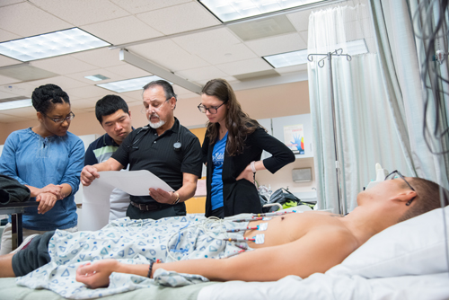
[[[295, 154], [242, 110], [224, 79], [207, 82], [198, 109], [208, 119], [202, 147], [203, 163], [207, 165], [206, 216], [260, 213], [255, 173], [277, 172], [294, 162]], [[263, 150], [272, 156], [261, 161]]]

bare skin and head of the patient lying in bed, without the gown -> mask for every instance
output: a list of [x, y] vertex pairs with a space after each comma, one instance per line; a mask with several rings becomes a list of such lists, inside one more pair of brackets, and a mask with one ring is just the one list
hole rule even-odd
[[[447, 191], [444, 194], [447, 205]], [[358, 207], [347, 216], [306, 212], [273, 217], [264, 232], [265, 242], [248, 242], [254, 251], [222, 260], [154, 263], [151, 277], [156, 269], [163, 268], [199, 274], [214, 281], [274, 281], [287, 275], [307, 278], [315, 272], [322, 273], [338, 265], [383, 229], [440, 207], [439, 186], [423, 179], [397, 176], [359, 193], [357, 204]], [[254, 221], [250, 225], [260, 222]], [[254, 234], [248, 231], [245, 237]], [[15, 276], [13, 255], [0, 257], [0, 277]], [[112, 272], [146, 277], [148, 270], [148, 264], [99, 260], [80, 266], [76, 271], [76, 280], [92, 288], [106, 287]]]

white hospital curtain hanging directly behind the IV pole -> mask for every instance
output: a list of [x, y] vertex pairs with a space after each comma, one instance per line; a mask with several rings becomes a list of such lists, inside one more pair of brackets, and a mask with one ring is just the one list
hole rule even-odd
[[[392, 110], [384, 88], [380, 59], [375, 46], [369, 5], [336, 6], [312, 12], [309, 18], [308, 53], [327, 53], [348, 42], [363, 40], [367, 53], [332, 58], [330, 89], [329, 61], [320, 67], [314, 57], [308, 65], [313, 154], [318, 191], [318, 207], [339, 212], [333, 130], [337, 133], [340, 163], [341, 199], [346, 212], [357, 207], [357, 194], [375, 179], [375, 163], [389, 171], [413, 175], [410, 154], [404, 154], [407, 141], [399, 138], [395, 118], [404, 111]], [[330, 93], [335, 100], [335, 127], [332, 122]], [[398, 115], [394, 115], [394, 113]], [[345, 211], [343, 211], [345, 212]]]

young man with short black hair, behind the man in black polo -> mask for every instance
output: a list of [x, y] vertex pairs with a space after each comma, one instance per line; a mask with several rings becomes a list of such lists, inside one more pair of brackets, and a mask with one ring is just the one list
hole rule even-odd
[[[89, 145], [85, 152], [84, 165], [106, 162], [134, 129], [131, 125], [131, 111], [128, 104], [118, 95], [106, 95], [97, 101], [95, 117], [106, 133]], [[128, 193], [119, 189], [112, 190], [110, 221], [126, 216], [128, 206]]]

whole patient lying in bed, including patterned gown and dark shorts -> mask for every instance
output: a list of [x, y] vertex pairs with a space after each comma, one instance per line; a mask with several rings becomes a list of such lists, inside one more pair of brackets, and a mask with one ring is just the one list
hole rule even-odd
[[[71, 256], [71, 260], [65, 263], [64, 269], [74, 269], [70, 271], [70, 280], [75, 279], [84, 283], [87, 287], [107, 287], [110, 283], [110, 274], [112, 272], [121, 272], [128, 274], [136, 274], [142, 277], [153, 278], [154, 271], [157, 269], [165, 269], [168, 271], [176, 271], [179, 273], [199, 274], [213, 281], [227, 281], [227, 280], [243, 280], [243, 281], [275, 281], [284, 278], [287, 275], [296, 275], [301, 278], [307, 278], [313, 273], [324, 273], [333, 266], [338, 265], [345, 260], [350, 253], [355, 251], [358, 247], [368, 241], [374, 234], [382, 232], [384, 229], [398, 224], [410, 217], [418, 216], [427, 211], [441, 207], [440, 196], [444, 199], [444, 205], [448, 204], [448, 191], [441, 188], [443, 191], [440, 195], [440, 187], [432, 182], [419, 178], [402, 177], [399, 172], [396, 173], [399, 177], [388, 176], [386, 180], [372, 189], [364, 190], [357, 195], [358, 206], [347, 216], [339, 216], [331, 213], [321, 211], [311, 211], [296, 214], [286, 214], [281, 216], [272, 216], [268, 220], [251, 221], [248, 224], [242, 224], [242, 228], [247, 228], [247, 231], [242, 231], [239, 241], [239, 249], [247, 251], [241, 252], [237, 256], [229, 259], [217, 260], [220, 251], [225, 251], [226, 247], [233, 247], [233, 241], [223, 241], [220, 236], [220, 243], [217, 243], [212, 235], [202, 230], [196, 230], [198, 236], [193, 234], [196, 243], [202, 243], [206, 235], [206, 240], [211, 240], [216, 247], [216, 252], [209, 254], [207, 258], [202, 251], [207, 251], [209, 247], [187, 247], [185, 252], [179, 254], [176, 252], [176, 257], [183, 257], [182, 260], [176, 257], [170, 258], [166, 251], [160, 249], [176, 250], [178, 243], [186, 244], [191, 237], [190, 232], [186, 233], [182, 230], [178, 234], [178, 229], [185, 228], [186, 221], [175, 218], [166, 218], [163, 225], [168, 225], [167, 232], [163, 230], [151, 231], [154, 222], [149, 221], [139, 227], [139, 233], [148, 233], [148, 237], [134, 234], [133, 236], [123, 236], [127, 240], [125, 250], [133, 249], [137, 251], [125, 251], [123, 256], [123, 248], [118, 247], [114, 252], [110, 251], [108, 258], [92, 262], [92, 257], [97, 252], [92, 252], [89, 247], [79, 247], [79, 243], [72, 243], [68, 249], [66, 247], [55, 247], [55, 243], [64, 243], [67, 238], [61, 234], [45, 234], [37, 237], [32, 243], [23, 251], [16, 254], [9, 254], [0, 257], [0, 277], [14, 277], [24, 276], [47, 264], [51, 259], [48, 255], [48, 241], [51, 239], [52, 257], [58, 258], [67, 253], [75, 253]], [[418, 208], [417, 208], [418, 207]], [[239, 216], [240, 218], [240, 216]], [[195, 228], [196, 220], [189, 221], [189, 228]], [[199, 220], [198, 222], [201, 222]], [[231, 223], [228, 224], [228, 222]], [[264, 239], [262, 242], [252, 242], [256, 234], [261, 232], [257, 230], [258, 226], [265, 223], [265, 230], [263, 231]], [[159, 224], [159, 223], [158, 223]], [[229, 220], [222, 220], [222, 223], [217, 224], [216, 227], [225, 229], [233, 228], [235, 222]], [[173, 227], [170, 227], [173, 225]], [[208, 224], [213, 226], [212, 223]], [[125, 225], [126, 226], [126, 225]], [[174, 229], [168, 229], [174, 228]], [[201, 227], [202, 228], [202, 227]], [[186, 228], [186, 231], [188, 228]], [[194, 230], [194, 229], [192, 229]], [[229, 232], [229, 230], [228, 230]], [[99, 235], [100, 233], [79, 233], [75, 236], [70, 236], [70, 239], [75, 239], [78, 235], [92, 234], [98, 237], [93, 241], [101, 244], [102, 247], [108, 247], [111, 244], [117, 247], [119, 242], [114, 241], [116, 237], [109, 237], [107, 234]], [[121, 233], [120, 233], [121, 235]], [[154, 235], [154, 236], [153, 236]], [[140, 237], [136, 237], [140, 236]], [[171, 237], [178, 237], [173, 238]], [[243, 238], [247, 238], [246, 242], [242, 242]], [[145, 243], [150, 239], [152, 243], [147, 243], [144, 247], [139, 243]], [[170, 241], [167, 241], [170, 240]], [[59, 241], [59, 242], [58, 242]], [[170, 243], [169, 243], [170, 242]], [[121, 243], [121, 242], [120, 242]], [[164, 246], [161, 248], [161, 246]], [[220, 245], [220, 246], [218, 246]], [[165, 248], [166, 246], [166, 248]], [[102, 247], [98, 247], [100, 253]], [[64, 249], [57, 249], [64, 248]], [[104, 249], [104, 248], [103, 248]], [[205, 250], [202, 250], [205, 249]], [[285, 255], [290, 253], [294, 255]], [[86, 255], [84, 255], [86, 254]], [[148, 264], [128, 264], [119, 262], [126, 259], [136, 259], [137, 256], [143, 255], [149, 261]], [[172, 254], [171, 254], [172, 255]], [[85, 257], [89, 257], [84, 259]], [[39, 257], [40, 260], [33, 258]], [[66, 256], [63, 256], [66, 258]], [[193, 258], [188, 260], [186, 258]], [[153, 260], [153, 262], [150, 262]], [[173, 261], [175, 260], [175, 261]], [[179, 261], [176, 261], [179, 260]], [[67, 258], [68, 261], [68, 258]], [[89, 262], [87, 264], [79, 265], [80, 261]], [[77, 266], [70, 268], [71, 266]], [[53, 273], [52, 269], [61, 268], [57, 263], [49, 264], [45, 267], [48, 273]], [[40, 273], [43, 269], [40, 270]], [[56, 273], [56, 271], [55, 271]], [[61, 273], [61, 272], [59, 272]], [[53, 280], [55, 278], [51, 278]], [[69, 280], [69, 281], [70, 281]]]

